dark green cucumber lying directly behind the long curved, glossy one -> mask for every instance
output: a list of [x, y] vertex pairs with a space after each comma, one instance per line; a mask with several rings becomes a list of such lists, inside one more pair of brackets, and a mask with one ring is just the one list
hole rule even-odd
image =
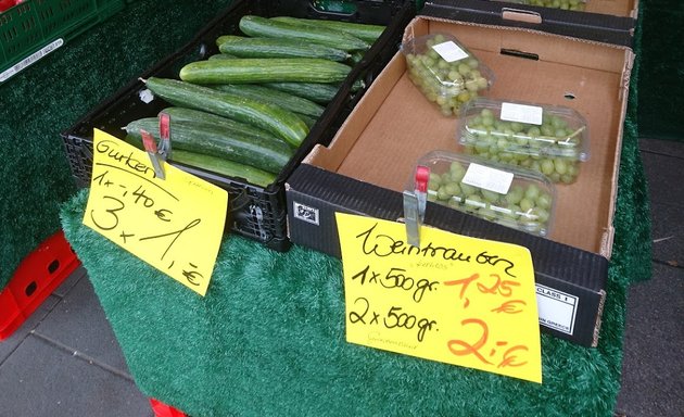
[[326, 110], [322, 105], [316, 104], [311, 100], [265, 86], [253, 84], [221, 84], [213, 88], [255, 100], [262, 99], [269, 103], [280, 105], [291, 112], [314, 117], [320, 116], [324, 110]]

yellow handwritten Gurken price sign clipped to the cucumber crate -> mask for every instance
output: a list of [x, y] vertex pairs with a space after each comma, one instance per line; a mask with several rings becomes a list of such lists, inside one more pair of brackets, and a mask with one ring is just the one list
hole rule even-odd
[[201, 295], [226, 222], [228, 193], [96, 129], [84, 224]]

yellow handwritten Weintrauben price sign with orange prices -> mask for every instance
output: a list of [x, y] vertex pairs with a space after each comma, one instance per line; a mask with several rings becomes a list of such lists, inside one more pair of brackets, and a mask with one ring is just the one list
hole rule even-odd
[[337, 214], [346, 340], [542, 382], [534, 270], [528, 249]]

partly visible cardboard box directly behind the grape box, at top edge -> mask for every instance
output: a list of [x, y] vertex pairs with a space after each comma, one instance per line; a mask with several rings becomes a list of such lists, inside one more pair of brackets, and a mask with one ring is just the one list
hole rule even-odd
[[637, 0], [586, 0], [586, 9], [582, 12], [520, 4], [512, 0], [432, 0], [426, 3], [421, 13], [483, 25], [509, 21], [519, 27], [631, 48], [637, 12]]

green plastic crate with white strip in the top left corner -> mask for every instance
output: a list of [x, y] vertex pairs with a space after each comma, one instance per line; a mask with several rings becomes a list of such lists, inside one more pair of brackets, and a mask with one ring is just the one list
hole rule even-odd
[[0, 14], [0, 84], [114, 13], [124, 0], [27, 0]]

